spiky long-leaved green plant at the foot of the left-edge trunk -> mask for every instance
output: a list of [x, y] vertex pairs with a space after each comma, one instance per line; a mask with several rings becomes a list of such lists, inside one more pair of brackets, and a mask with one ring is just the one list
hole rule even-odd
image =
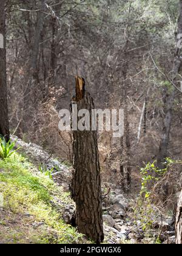
[[0, 157], [2, 159], [8, 158], [13, 155], [18, 149], [13, 150], [15, 148], [16, 141], [11, 143], [10, 140], [6, 141], [4, 137], [0, 137]]

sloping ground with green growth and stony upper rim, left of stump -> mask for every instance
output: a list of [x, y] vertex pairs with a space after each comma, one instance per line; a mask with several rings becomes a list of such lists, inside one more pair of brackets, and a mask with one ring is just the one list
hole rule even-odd
[[[75, 210], [69, 166], [35, 144], [17, 144], [19, 153], [0, 160], [0, 244], [92, 243], [69, 224]], [[112, 236], [106, 231], [104, 243], [112, 243]]]

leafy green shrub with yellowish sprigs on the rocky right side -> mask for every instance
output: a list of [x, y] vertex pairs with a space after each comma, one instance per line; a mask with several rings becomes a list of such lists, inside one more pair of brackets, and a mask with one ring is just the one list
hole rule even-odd
[[[177, 161], [166, 158], [164, 168], [159, 169], [156, 166], [156, 161], [153, 163], [147, 163], [144, 168], [141, 168], [141, 190], [135, 206], [135, 219], [140, 220], [141, 228], [148, 236], [153, 223], [160, 218], [161, 213], [158, 212], [153, 198], [155, 198], [158, 191], [157, 186], [161, 187], [163, 178], [168, 174], [170, 166], [179, 163]], [[136, 221], [137, 222], [137, 221]], [[160, 237], [157, 243], [160, 241]]]

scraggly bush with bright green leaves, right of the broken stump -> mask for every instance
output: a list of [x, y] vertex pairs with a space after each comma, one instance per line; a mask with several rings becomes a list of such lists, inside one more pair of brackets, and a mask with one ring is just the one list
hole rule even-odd
[[[158, 201], [158, 199], [161, 199], [164, 185], [177, 175], [174, 168], [177, 164], [181, 164], [181, 162], [166, 158], [163, 169], [157, 167], [156, 161], [147, 163], [144, 168], [140, 169], [141, 190], [134, 208], [134, 218], [136, 223], [140, 223], [140, 228], [143, 229], [146, 236], [150, 236], [153, 225], [157, 222], [160, 223], [161, 219], [167, 215], [165, 202]], [[160, 228], [159, 226], [159, 234]], [[157, 241], [160, 241], [160, 237], [157, 238]]]

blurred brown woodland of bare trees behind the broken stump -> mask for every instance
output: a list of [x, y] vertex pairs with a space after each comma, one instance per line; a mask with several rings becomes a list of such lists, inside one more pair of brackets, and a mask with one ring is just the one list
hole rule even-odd
[[[74, 77], [83, 76], [96, 108], [125, 110], [121, 141], [99, 133], [104, 182], [120, 186], [127, 168], [137, 189], [138, 166], [157, 160], [166, 132], [178, 13], [178, 0], [7, 1], [11, 132], [71, 162], [58, 111], [69, 108]], [[162, 150], [175, 160], [182, 158], [180, 90], [172, 102]]]

